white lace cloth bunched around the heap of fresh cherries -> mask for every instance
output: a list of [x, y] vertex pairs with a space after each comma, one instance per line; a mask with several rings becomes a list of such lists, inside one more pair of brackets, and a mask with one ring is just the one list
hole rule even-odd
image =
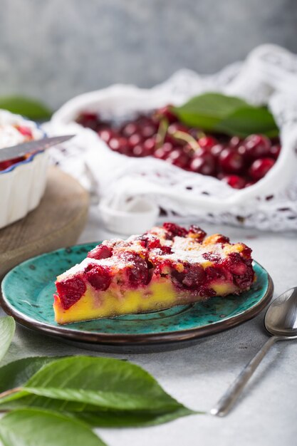
[[[186, 172], [153, 157], [120, 155], [92, 130], [73, 122], [81, 110], [121, 120], [137, 111], [181, 104], [205, 91], [267, 104], [276, 118], [281, 155], [256, 185], [234, 190], [216, 178]], [[112, 231], [129, 234], [147, 229], [160, 208], [168, 219], [179, 215], [274, 231], [297, 229], [297, 56], [278, 46], [260, 46], [243, 63], [214, 76], [181, 70], [150, 90], [113, 85], [80, 95], [53, 115], [46, 131], [77, 135], [62, 152], [53, 149], [52, 156], [100, 199], [98, 212]]]

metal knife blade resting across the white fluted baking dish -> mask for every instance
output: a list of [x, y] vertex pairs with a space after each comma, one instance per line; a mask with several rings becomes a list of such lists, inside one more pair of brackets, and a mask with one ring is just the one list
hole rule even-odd
[[14, 158], [26, 155], [26, 153], [46, 150], [48, 147], [70, 140], [73, 136], [75, 135], [53, 136], [52, 138], [42, 138], [41, 140], [22, 142], [11, 147], [4, 147], [4, 149], [0, 149], [0, 162], [13, 160]]

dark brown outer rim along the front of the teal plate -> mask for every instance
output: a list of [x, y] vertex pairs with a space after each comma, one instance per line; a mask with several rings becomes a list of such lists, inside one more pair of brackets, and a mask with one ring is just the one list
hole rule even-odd
[[[258, 262], [256, 262], [259, 264]], [[259, 264], [261, 266], [261, 264]], [[266, 271], [263, 266], [261, 266], [264, 271]], [[102, 344], [110, 346], [141, 346], [141, 345], [154, 345], [162, 343], [176, 343], [179, 341], [189, 341], [196, 338], [202, 338], [204, 336], [209, 336], [214, 333], [219, 333], [221, 331], [228, 330], [229, 328], [235, 327], [241, 323], [249, 321], [251, 318], [257, 316], [272, 299], [273, 296], [273, 281], [271, 276], [266, 271], [268, 286], [266, 293], [262, 299], [249, 310], [244, 311], [236, 316], [225, 319], [223, 321], [214, 322], [207, 326], [189, 328], [188, 330], [173, 331], [172, 333], [145, 333], [145, 334], [113, 334], [113, 333], [90, 333], [88, 331], [73, 331], [65, 328], [50, 326], [47, 323], [42, 323], [38, 321], [33, 321], [28, 318], [23, 313], [15, 311], [11, 308], [9, 304], [4, 299], [2, 292], [0, 292], [0, 304], [4, 309], [5, 313], [9, 316], [13, 316], [16, 321], [26, 328], [31, 328], [33, 330], [45, 333], [48, 336], [53, 336], [56, 338], [66, 338], [70, 341], [78, 341], [80, 343], [89, 344]]]

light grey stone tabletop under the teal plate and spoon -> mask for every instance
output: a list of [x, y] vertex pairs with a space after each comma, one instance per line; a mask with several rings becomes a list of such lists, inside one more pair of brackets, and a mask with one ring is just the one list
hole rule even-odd
[[[275, 296], [296, 286], [296, 234], [261, 233], [252, 229], [207, 227], [224, 232], [254, 249], [254, 258], [271, 274]], [[110, 237], [95, 212], [80, 242]], [[1, 310], [0, 310], [1, 313]], [[189, 408], [209, 410], [267, 339], [264, 312], [241, 326], [202, 338], [177, 351], [117, 354], [142, 365], [165, 389]], [[83, 351], [18, 327], [6, 361], [24, 356], [77, 355]], [[101, 354], [101, 356], [108, 356]], [[226, 418], [195, 415], [145, 429], [100, 429], [109, 446], [294, 446], [297, 437], [297, 341], [277, 343], [264, 358], [236, 408]]]

